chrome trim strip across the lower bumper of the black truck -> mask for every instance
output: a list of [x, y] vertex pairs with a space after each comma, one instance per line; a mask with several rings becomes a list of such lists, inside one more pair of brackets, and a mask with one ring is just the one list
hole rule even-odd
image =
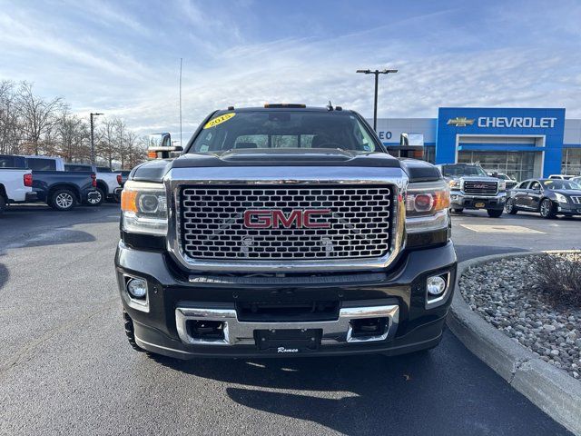
[[[362, 318], [388, 318], [388, 326], [380, 335], [365, 338], [353, 337], [351, 320]], [[192, 338], [187, 330], [188, 321], [223, 322], [223, 339]], [[175, 323], [183, 343], [189, 345], [254, 345], [255, 330], [322, 329], [321, 344], [379, 342], [393, 339], [399, 323], [399, 306], [388, 304], [340, 309], [339, 319], [320, 322], [240, 322], [234, 309], [208, 309], [203, 307], [178, 307]]]

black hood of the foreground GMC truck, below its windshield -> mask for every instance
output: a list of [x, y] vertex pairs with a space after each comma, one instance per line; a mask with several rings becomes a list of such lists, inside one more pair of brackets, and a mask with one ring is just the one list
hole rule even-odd
[[[399, 161], [386, 153], [355, 152], [339, 149], [243, 149], [222, 154], [182, 154], [173, 160], [156, 160], [133, 169], [129, 178], [141, 182], [162, 182], [172, 168], [231, 168], [245, 166], [345, 166], [401, 168], [411, 182], [438, 180], [435, 166], [421, 161]], [[316, 171], [316, 169], [313, 169]]]

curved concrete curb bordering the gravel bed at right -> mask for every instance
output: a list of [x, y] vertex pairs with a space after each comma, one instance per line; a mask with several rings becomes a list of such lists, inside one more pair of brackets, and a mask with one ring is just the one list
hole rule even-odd
[[528, 400], [572, 431], [581, 435], [581, 383], [543, 361], [520, 343], [490, 325], [464, 302], [458, 282], [469, 267], [503, 258], [578, 250], [504, 253], [458, 263], [455, 292], [448, 312], [448, 327], [470, 352], [485, 362]]

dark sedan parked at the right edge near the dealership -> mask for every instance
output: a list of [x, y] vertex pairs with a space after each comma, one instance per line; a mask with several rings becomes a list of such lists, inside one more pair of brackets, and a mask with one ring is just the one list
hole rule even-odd
[[507, 213], [538, 212], [543, 218], [581, 215], [581, 184], [570, 180], [529, 179], [509, 193]]

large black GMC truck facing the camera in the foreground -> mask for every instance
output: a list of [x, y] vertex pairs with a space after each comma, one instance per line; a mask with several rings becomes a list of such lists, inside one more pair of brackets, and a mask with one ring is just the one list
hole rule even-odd
[[351, 111], [212, 113], [133, 169], [115, 255], [125, 331], [177, 358], [400, 354], [441, 339], [448, 183]]

